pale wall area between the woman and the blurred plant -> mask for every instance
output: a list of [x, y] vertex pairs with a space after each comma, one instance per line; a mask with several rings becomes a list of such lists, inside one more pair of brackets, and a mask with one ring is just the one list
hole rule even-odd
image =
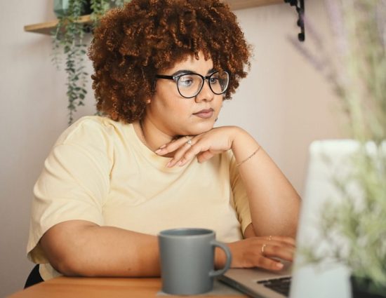
[[[323, 2], [307, 0], [306, 15], [331, 48]], [[300, 32], [293, 7], [277, 4], [236, 14], [255, 55], [234, 100], [225, 102], [218, 125], [246, 128], [301, 194], [310, 142], [341, 135], [333, 111], [337, 100], [321, 74], [288, 41]]]

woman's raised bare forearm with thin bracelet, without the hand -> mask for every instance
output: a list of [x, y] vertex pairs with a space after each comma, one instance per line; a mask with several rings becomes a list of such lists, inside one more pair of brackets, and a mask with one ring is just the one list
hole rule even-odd
[[300, 197], [253, 137], [235, 129], [232, 151], [247, 190], [256, 236], [295, 237]]

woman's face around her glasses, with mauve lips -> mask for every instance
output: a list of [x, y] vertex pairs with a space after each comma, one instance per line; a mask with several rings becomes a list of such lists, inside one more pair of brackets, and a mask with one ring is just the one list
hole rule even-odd
[[[199, 60], [188, 56], [171, 69], [159, 74], [173, 76], [184, 72], [194, 72], [208, 76], [215, 70], [213, 61], [205, 60], [199, 53]], [[204, 86], [196, 97], [185, 98], [180, 95], [175, 81], [157, 79], [156, 92], [146, 109], [146, 121], [151, 121], [155, 127], [174, 137], [175, 135], [199, 135], [213, 128], [215, 119], [222, 107], [222, 96], [215, 95], [205, 80]]]

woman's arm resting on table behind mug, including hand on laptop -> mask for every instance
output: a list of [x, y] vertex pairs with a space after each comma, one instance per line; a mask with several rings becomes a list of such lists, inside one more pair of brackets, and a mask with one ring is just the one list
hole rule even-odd
[[[280, 270], [281, 262], [270, 257], [292, 260], [294, 243], [291, 238], [253, 237], [251, 225], [246, 229], [248, 233], [251, 238], [227, 244], [232, 252], [232, 267], [260, 266]], [[260, 252], [263, 243], [270, 244], [265, 255]], [[48, 229], [40, 244], [51, 266], [65, 276], [160, 275], [157, 236], [70, 220]], [[224, 264], [224, 252], [216, 249], [215, 265], [222, 268]]]

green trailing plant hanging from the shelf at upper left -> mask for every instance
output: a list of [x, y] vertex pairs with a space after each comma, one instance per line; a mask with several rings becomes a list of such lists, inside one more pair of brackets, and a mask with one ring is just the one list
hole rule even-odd
[[[65, 72], [67, 73], [67, 99], [69, 124], [74, 120], [76, 107], [84, 105], [88, 73], [85, 71], [87, 44], [85, 34], [93, 32], [98, 20], [110, 8], [122, 6], [129, 0], [67, 0], [55, 5], [58, 25], [52, 32], [53, 63], [60, 69], [61, 54], [65, 56]], [[59, 6], [59, 7], [58, 7]], [[90, 13], [92, 25], [79, 22], [81, 16]]]

